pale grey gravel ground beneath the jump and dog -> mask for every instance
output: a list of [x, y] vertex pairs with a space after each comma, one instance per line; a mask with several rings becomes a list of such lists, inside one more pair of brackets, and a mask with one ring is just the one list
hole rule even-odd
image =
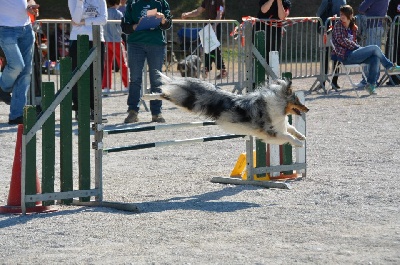
[[[313, 81], [294, 86], [308, 91]], [[400, 264], [400, 87], [378, 93], [307, 95], [307, 177], [290, 190], [210, 182], [229, 176], [243, 139], [108, 154], [104, 199], [134, 203], [139, 213], [56, 206], [0, 215], [0, 264]], [[124, 127], [126, 97], [104, 98], [106, 129]], [[16, 139], [8, 111], [0, 103], [0, 205], [7, 204]], [[168, 123], [203, 120], [167, 102], [164, 116]], [[140, 119], [148, 124], [150, 113]], [[104, 143], [223, 133], [213, 126]]]

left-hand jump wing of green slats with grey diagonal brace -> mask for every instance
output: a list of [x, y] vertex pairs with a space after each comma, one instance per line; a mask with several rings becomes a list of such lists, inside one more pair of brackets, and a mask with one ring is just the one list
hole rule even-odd
[[[54, 83], [43, 84], [43, 111], [37, 117], [36, 108], [27, 106], [24, 113], [24, 132], [22, 135], [22, 176], [21, 176], [21, 212], [26, 214], [27, 208], [42, 201], [43, 205], [53, 205], [55, 201], [62, 204], [104, 206], [126, 211], [137, 211], [133, 204], [103, 201], [102, 187], [102, 150], [103, 125], [101, 114], [101, 76], [100, 61], [100, 27], [93, 26], [93, 48], [89, 51], [88, 36], [78, 36], [78, 67], [71, 72], [71, 60], [61, 60], [61, 87], [54, 95]], [[93, 64], [95, 84], [94, 143], [90, 139], [89, 80], [88, 68]], [[72, 154], [72, 97], [71, 89], [78, 84], [78, 178], [79, 187], [73, 185]], [[86, 100], [84, 100], [86, 99]], [[55, 183], [55, 119], [54, 111], [60, 105], [60, 191], [54, 191]], [[36, 190], [36, 133], [42, 128], [42, 187], [41, 194]], [[91, 188], [90, 148], [94, 150], [95, 187]], [[91, 201], [90, 197], [95, 197]], [[79, 200], [74, 200], [79, 198]]]

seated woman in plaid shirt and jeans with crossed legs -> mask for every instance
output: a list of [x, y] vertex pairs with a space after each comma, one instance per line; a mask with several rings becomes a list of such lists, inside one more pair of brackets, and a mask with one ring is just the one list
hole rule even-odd
[[367, 64], [367, 90], [370, 95], [375, 95], [375, 87], [378, 79], [380, 64], [389, 73], [400, 72], [400, 67], [392, 63], [382, 50], [376, 45], [361, 47], [356, 43], [357, 26], [354, 23], [353, 8], [344, 5], [340, 8], [340, 20], [336, 22], [332, 31], [332, 42], [335, 49], [332, 49], [332, 60], [339, 60], [343, 64]]

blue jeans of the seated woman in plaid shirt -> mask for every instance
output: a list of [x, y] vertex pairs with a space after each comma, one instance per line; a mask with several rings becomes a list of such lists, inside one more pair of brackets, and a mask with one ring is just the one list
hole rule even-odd
[[378, 81], [379, 66], [383, 65], [386, 69], [393, 66], [393, 63], [382, 53], [382, 50], [376, 45], [369, 45], [352, 51], [343, 64], [368, 64], [369, 72], [366, 73], [367, 82], [375, 85]]

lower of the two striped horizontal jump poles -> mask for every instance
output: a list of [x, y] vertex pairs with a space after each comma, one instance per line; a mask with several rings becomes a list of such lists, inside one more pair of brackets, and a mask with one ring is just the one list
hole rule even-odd
[[164, 146], [171, 146], [171, 145], [182, 145], [182, 144], [189, 144], [189, 143], [220, 141], [220, 140], [243, 138], [243, 137], [245, 137], [245, 135], [226, 134], [226, 135], [209, 136], [209, 137], [202, 137], [202, 138], [154, 142], [154, 143], [137, 144], [137, 145], [130, 145], [130, 146], [111, 147], [111, 148], [104, 149], [104, 153], [116, 153], [116, 152], [123, 152], [123, 151], [129, 151], [129, 150], [140, 150], [140, 149], [164, 147]]

